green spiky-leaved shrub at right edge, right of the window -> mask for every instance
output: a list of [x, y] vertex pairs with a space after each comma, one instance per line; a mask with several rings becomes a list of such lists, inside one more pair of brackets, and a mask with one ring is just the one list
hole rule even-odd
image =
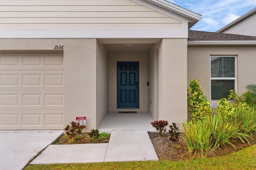
[[246, 89], [247, 91], [243, 94], [245, 103], [250, 106], [256, 106], [256, 84], [249, 84]]

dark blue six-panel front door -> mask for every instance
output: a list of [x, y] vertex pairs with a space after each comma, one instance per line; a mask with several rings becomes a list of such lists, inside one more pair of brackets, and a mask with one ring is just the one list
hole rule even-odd
[[117, 62], [117, 108], [139, 108], [139, 62]]

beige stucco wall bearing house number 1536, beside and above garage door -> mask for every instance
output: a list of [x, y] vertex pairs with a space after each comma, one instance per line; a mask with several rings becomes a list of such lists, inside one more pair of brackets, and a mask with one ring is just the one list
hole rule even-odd
[[51, 51], [63, 45], [64, 125], [86, 116], [96, 128], [96, 39], [1, 39], [0, 50]]

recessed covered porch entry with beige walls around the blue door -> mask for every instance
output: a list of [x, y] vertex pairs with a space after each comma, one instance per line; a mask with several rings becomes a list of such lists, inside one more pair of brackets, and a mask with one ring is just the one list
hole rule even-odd
[[97, 40], [99, 130], [154, 130], [150, 122], [158, 120], [159, 41]]

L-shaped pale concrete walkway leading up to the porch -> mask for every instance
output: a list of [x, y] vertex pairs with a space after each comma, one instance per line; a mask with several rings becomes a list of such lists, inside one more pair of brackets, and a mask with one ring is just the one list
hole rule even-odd
[[30, 164], [158, 160], [147, 131], [112, 131], [109, 143], [50, 145]]

